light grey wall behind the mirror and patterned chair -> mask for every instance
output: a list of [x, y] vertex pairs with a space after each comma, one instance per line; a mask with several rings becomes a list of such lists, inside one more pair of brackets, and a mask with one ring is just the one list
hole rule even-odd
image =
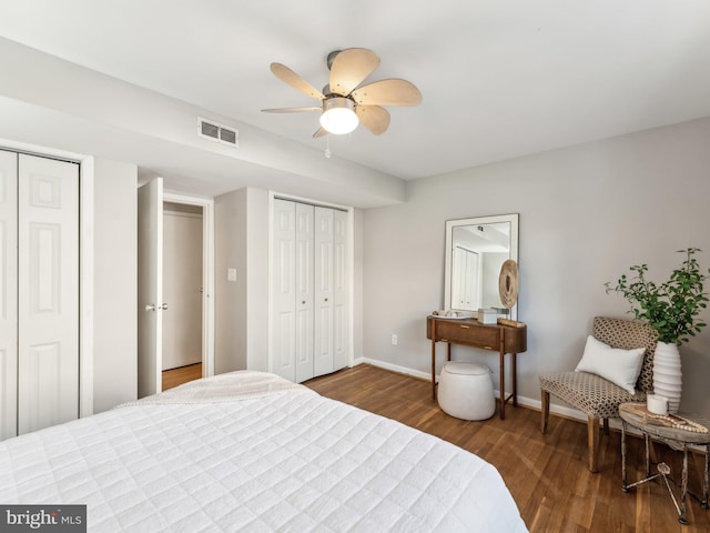
[[[428, 372], [425, 318], [444, 303], [445, 221], [517, 212], [518, 319], [528, 324], [519, 394], [539, 405], [538, 372], [575, 368], [592, 316], [629, 316], [606, 281], [638, 263], [662, 280], [688, 247], [710, 266], [709, 145], [703, 119], [412, 182], [405, 204], [364, 213], [365, 355]], [[483, 351], [454, 355], [498, 366]], [[681, 355], [681, 409], [710, 415], [710, 328]]]

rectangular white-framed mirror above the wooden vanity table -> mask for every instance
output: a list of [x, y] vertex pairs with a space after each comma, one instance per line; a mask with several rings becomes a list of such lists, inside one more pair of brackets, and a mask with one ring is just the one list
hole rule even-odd
[[518, 305], [506, 309], [498, 286], [508, 259], [518, 261], [517, 213], [447, 220], [444, 306], [470, 316], [495, 309], [517, 320]]

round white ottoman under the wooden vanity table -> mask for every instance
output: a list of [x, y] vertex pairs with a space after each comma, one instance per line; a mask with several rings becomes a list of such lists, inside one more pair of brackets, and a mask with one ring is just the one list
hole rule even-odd
[[446, 363], [436, 398], [442, 410], [457, 419], [485, 420], [496, 411], [490, 370], [485, 364]]

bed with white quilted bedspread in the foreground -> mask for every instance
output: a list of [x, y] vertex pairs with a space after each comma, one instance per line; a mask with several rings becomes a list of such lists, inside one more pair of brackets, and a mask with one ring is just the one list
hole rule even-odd
[[480, 457], [250, 371], [0, 442], [0, 503], [85, 504], [92, 533], [527, 531]]

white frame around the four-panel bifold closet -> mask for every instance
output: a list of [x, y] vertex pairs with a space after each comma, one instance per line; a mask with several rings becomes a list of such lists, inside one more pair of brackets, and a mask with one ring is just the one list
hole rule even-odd
[[349, 271], [348, 275], [348, 291], [347, 291], [347, 328], [348, 328], [348, 338], [347, 338], [347, 365], [352, 368], [355, 364], [355, 209], [347, 205], [341, 205], [337, 203], [323, 202], [320, 200], [313, 200], [311, 198], [296, 197], [294, 194], [286, 194], [276, 191], [268, 191], [268, 320], [267, 320], [267, 339], [268, 339], [268, 350], [267, 350], [267, 364], [268, 372], [273, 372], [274, 364], [274, 346], [272, 343], [274, 324], [272, 318], [272, 310], [274, 309], [274, 286], [272, 282], [272, 276], [274, 272], [274, 201], [276, 199], [290, 200], [293, 202], [307, 203], [310, 205], [318, 205], [322, 208], [332, 208], [338, 209], [341, 211], [345, 211], [347, 213], [347, 257], [345, 258], [345, 263], [347, 264], [347, 269]]

